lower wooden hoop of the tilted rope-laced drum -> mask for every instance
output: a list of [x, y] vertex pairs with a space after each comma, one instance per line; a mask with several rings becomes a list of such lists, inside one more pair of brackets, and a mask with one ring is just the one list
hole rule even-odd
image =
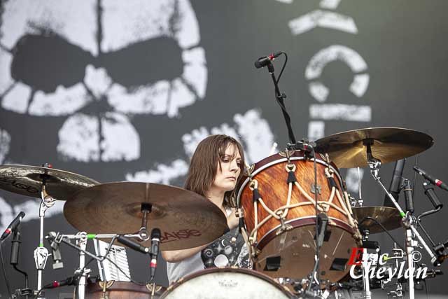
[[[349, 232], [349, 234], [354, 235], [355, 234], [355, 230], [353, 230], [353, 228], [349, 225], [349, 223], [346, 223], [345, 221], [340, 220], [339, 218], [335, 218], [335, 217], [328, 217], [329, 219], [331, 219], [331, 221], [333, 221], [332, 224], [328, 223], [330, 226], [335, 226], [337, 228], [342, 228], [343, 230], [346, 230], [346, 232]], [[294, 218], [294, 219], [290, 219], [288, 221], [285, 221], [285, 224], [290, 224], [290, 223], [297, 223], [297, 226], [293, 225], [293, 230], [295, 230], [296, 228], [301, 228], [302, 226], [305, 225], [316, 225], [316, 216], [305, 216], [305, 217], [300, 217], [300, 218]], [[281, 225], [277, 225], [276, 227], [272, 228], [271, 230], [269, 230], [268, 232], [265, 233], [265, 235], [262, 236], [262, 238], [260, 239], [260, 241], [257, 244], [257, 249], [262, 250], [265, 248], [265, 246], [272, 241], [272, 239], [274, 239], [275, 237], [277, 237], [275, 230], [278, 230], [281, 227]]]

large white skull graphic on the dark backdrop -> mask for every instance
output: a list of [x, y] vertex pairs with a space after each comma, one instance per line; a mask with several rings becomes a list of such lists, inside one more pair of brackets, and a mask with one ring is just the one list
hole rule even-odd
[[64, 160], [137, 160], [134, 116], [175, 118], [205, 96], [188, 0], [14, 0], [2, 11], [1, 108], [63, 117]]

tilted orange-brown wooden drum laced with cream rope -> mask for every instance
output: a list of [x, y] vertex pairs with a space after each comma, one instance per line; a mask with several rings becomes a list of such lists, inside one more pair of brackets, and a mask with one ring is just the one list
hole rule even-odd
[[314, 268], [318, 213], [328, 216], [320, 249], [321, 280], [338, 281], [349, 272], [351, 248], [360, 233], [351, 216], [348, 195], [335, 165], [302, 151], [271, 155], [252, 165], [239, 186], [237, 204], [244, 208], [248, 247], [255, 270], [270, 277], [307, 277]]

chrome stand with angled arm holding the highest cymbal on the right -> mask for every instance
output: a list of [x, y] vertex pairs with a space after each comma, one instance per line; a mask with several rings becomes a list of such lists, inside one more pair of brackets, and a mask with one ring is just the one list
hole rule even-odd
[[398, 202], [395, 200], [395, 198], [391, 195], [391, 193], [388, 192], [388, 190], [386, 189], [386, 187], [384, 186], [384, 184], [381, 182], [381, 178], [379, 177], [379, 168], [381, 167], [381, 161], [378, 160], [377, 158], [374, 158], [372, 155], [372, 144], [373, 144], [373, 140], [372, 139], [365, 139], [363, 141], [363, 144], [365, 146], [367, 146], [367, 163], [370, 167], [370, 173], [372, 174], [373, 178], [375, 179], [375, 181], [377, 181], [377, 183], [379, 184], [379, 186], [381, 186], [381, 188], [383, 188], [384, 192], [386, 193], [386, 195], [389, 197], [389, 199], [391, 200], [391, 202], [393, 203], [393, 205], [395, 206], [395, 208], [398, 209], [398, 211], [400, 212], [400, 216], [402, 218], [402, 223], [406, 228], [406, 253], [407, 253], [407, 267], [409, 270], [409, 299], [414, 299], [415, 298], [415, 293], [414, 293], [414, 260], [412, 259], [412, 251], [413, 251], [413, 247], [416, 246], [416, 242], [414, 241], [413, 237], [416, 237], [420, 244], [423, 245], [424, 249], [426, 249], [426, 251], [428, 252], [430, 258], [431, 258], [431, 262], [435, 263], [437, 258], [435, 256], [435, 254], [433, 253], [433, 251], [431, 251], [431, 249], [429, 248], [428, 244], [426, 244], [425, 240], [423, 239], [423, 237], [421, 237], [421, 235], [419, 234], [419, 232], [416, 230], [415, 226], [414, 226], [414, 219], [412, 218], [412, 215], [407, 212], [405, 213], [402, 208], [400, 207], [400, 204], [398, 204]]

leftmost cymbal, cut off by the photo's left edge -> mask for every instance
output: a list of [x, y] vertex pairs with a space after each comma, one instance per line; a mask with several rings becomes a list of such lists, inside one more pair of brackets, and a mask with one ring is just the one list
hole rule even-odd
[[99, 184], [86, 176], [64, 170], [29, 165], [0, 165], [0, 188], [12, 193], [41, 198], [43, 179], [46, 192], [57, 200], [66, 200], [78, 190]]

